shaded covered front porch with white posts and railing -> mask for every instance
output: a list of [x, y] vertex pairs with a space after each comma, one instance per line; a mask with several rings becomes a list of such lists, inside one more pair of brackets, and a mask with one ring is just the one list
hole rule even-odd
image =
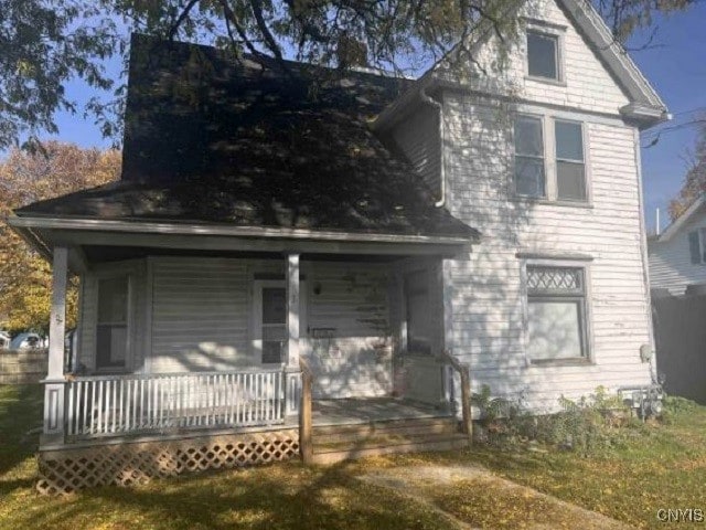
[[[442, 356], [443, 259], [467, 240], [12, 223], [53, 263], [41, 451], [277, 428], [301, 442], [307, 410], [311, 428], [450, 416], [461, 401]], [[82, 288], [65, 371], [71, 273]]]

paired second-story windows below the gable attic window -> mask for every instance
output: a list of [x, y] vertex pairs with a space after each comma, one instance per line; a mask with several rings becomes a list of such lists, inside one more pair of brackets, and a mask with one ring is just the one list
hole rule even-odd
[[515, 195], [588, 202], [581, 123], [518, 114], [513, 132]]

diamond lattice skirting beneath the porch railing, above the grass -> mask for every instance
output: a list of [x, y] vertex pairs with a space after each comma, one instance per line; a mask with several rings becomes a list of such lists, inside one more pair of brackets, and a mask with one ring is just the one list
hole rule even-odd
[[296, 456], [299, 456], [297, 430], [44, 451], [39, 456], [36, 489], [55, 495], [93, 486], [130, 486], [154, 477], [267, 464]]

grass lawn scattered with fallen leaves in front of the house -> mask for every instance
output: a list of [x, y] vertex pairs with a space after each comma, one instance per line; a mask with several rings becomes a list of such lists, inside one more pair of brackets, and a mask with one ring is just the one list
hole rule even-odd
[[[409, 455], [306, 468], [298, 462], [206, 473], [122, 489], [96, 488], [49, 498], [36, 495], [34, 451], [41, 416], [36, 386], [0, 386], [0, 528], [425, 528], [449, 522], [431, 505], [359, 481], [371, 468], [414, 464], [482, 464], [498, 475], [643, 528], [663, 528], [660, 508], [706, 510], [706, 407], [682, 407], [670, 424], [654, 424], [600, 457], [571, 453], [500, 451]], [[488, 495], [472, 484], [437, 491], [432, 504], [461, 520], [496, 528], [480, 515], [515, 510], [523, 499]], [[560, 516], [559, 516], [560, 517]], [[520, 518], [520, 519], [518, 519]], [[496, 520], [495, 520], [496, 522]]]

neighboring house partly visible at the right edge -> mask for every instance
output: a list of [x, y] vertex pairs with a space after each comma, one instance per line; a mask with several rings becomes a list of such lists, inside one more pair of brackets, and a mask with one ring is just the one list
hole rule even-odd
[[689, 285], [706, 284], [706, 194], [651, 236], [648, 247], [651, 288], [683, 295]]

